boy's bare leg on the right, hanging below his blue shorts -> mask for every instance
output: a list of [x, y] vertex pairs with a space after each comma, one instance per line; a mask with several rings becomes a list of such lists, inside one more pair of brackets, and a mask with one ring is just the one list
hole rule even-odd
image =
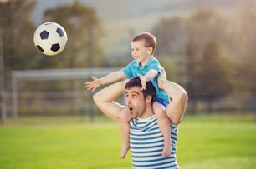
[[153, 109], [157, 117], [158, 126], [164, 137], [164, 147], [162, 150], [162, 157], [169, 157], [171, 155], [171, 122], [166, 115], [166, 108], [159, 102], [153, 103]]

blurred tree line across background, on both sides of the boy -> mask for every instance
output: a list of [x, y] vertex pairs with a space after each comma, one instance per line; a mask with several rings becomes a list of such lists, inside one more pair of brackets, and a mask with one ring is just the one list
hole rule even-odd
[[[59, 57], [42, 57], [33, 47], [36, 26], [29, 19], [36, 3], [35, 0], [0, 2], [0, 56], [4, 66], [1, 72], [7, 90], [12, 70], [104, 65], [100, 39], [107, 32], [100, 25], [95, 9], [79, 1], [44, 12], [43, 22], [58, 22], [65, 27], [69, 41], [61, 62]], [[161, 18], [150, 27], [158, 40], [157, 58], [170, 78], [186, 87], [191, 99], [255, 97], [254, 6], [253, 2], [241, 2], [232, 17], [202, 9], [191, 17]], [[111, 65], [115, 66], [120, 65]]]

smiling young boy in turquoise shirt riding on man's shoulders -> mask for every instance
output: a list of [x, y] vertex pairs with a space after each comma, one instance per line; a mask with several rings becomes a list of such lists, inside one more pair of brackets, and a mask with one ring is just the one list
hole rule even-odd
[[[169, 157], [171, 154], [171, 126], [169, 118], [166, 115], [166, 106], [170, 102], [170, 98], [166, 92], [159, 89], [157, 85], [157, 76], [162, 68], [158, 60], [153, 57], [156, 51], [156, 37], [149, 32], [142, 32], [131, 41], [131, 56], [134, 58], [126, 67], [120, 71], [111, 72], [105, 77], [96, 78], [92, 76], [93, 81], [86, 82], [85, 87], [87, 90], [95, 91], [100, 85], [108, 84], [111, 82], [119, 81], [123, 78], [140, 77], [142, 88], [146, 87], [146, 82], [151, 81], [156, 87], [156, 98], [153, 102], [153, 110], [157, 117], [159, 128], [164, 136], [164, 147], [162, 150], [162, 157]], [[129, 132], [131, 115], [126, 107], [120, 112], [120, 128], [123, 139], [123, 146], [120, 158], [125, 158], [126, 153], [130, 148]]]

